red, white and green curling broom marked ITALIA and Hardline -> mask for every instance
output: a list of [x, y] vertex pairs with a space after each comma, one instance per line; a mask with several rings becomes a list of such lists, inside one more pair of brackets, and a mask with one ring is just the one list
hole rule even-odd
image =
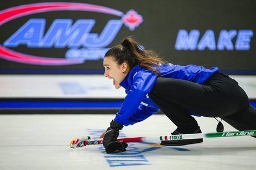
[[[243, 130], [243, 131], [225, 131], [218, 133], [197, 133], [197, 134], [180, 134], [159, 137], [136, 137], [136, 138], [120, 138], [119, 142], [161, 142], [161, 141], [174, 141], [185, 139], [199, 139], [199, 138], [222, 138], [222, 137], [243, 137], [256, 135], [256, 130]], [[91, 141], [89, 136], [74, 138], [69, 146], [71, 148], [80, 148], [87, 145], [100, 145], [103, 144], [102, 140]], [[176, 145], [179, 146], [179, 145]]]

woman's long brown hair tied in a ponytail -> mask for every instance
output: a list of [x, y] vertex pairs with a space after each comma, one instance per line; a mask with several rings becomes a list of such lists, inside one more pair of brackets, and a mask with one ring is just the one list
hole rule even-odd
[[109, 49], [108, 52], [106, 52], [105, 57], [110, 56], [114, 58], [118, 65], [121, 65], [123, 62], [127, 62], [130, 69], [139, 65], [143, 69], [150, 70], [157, 75], [159, 75], [159, 72], [152, 66], [158, 66], [159, 64], [166, 63], [166, 61], [159, 58], [151, 50], [143, 50], [138, 42], [133, 40], [131, 37], [125, 38], [121, 44]]

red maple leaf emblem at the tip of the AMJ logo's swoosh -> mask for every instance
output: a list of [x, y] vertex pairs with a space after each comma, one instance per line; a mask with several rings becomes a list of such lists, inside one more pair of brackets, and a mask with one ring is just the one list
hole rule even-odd
[[143, 22], [142, 16], [134, 10], [130, 10], [125, 15], [123, 15], [122, 20], [126, 27], [130, 29], [130, 31], [134, 31], [134, 29]]

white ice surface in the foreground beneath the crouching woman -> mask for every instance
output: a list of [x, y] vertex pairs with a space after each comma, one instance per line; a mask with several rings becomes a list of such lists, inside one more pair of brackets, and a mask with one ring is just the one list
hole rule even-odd
[[[0, 169], [256, 169], [253, 137], [206, 138], [203, 143], [160, 147], [129, 143], [123, 154], [106, 154], [101, 145], [73, 150], [81, 135], [96, 139], [113, 115], [0, 115]], [[214, 118], [196, 117], [203, 133], [215, 132]], [[224, 122], [225, 131], [236, 130]], [[127, 126], [121, 137], [169, 135], [175, 125], [162, 114]]]

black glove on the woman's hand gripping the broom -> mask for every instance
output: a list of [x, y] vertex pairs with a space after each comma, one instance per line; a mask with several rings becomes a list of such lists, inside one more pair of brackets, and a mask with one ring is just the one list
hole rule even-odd
[[106, 130], [106, 134], [103, 138], [103, 146], [107, 154], [126, 151], [127, 143], [117, 141], [119, 130], [121, 129], [123, 129], [123, 125], [113, 120], [110, 122], [110, 127]]

